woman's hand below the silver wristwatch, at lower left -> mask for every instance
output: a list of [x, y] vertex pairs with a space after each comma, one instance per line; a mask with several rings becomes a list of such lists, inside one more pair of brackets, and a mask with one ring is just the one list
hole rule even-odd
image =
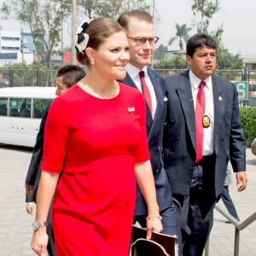
[[40, 256], [47, 256], [46, 248], [49, 237], [46, 234], [46, 228], [42, 227], [34, 231], [31, 241], [32, 250]]

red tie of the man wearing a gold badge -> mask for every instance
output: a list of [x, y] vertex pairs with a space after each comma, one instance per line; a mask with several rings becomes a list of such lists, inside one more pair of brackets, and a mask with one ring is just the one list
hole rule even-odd
[[198, 162], [202, 158], [203, 154], [203, 141], [204, 141], [204, 127], [202, 124], [203, 115], [206, 108], [206, 97], [204, 93], [205, 81], [201, 81], [199, 84], [199, 90], [197, 92], [195, 103], [195, 130], [196, 130], [196, 159]]

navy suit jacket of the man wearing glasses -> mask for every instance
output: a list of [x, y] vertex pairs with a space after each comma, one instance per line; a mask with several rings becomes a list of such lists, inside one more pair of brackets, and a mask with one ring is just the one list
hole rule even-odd
[[[148, 148], [150, 153], [150, 160], [154, 172], [154, 182], [156, 188], [157, 201], [160, 211], [170, 207], [172, 203], [172, 193], [170, 184], [166, 176], [166, 171], [163, 168], [162, 161], [162, 133], [166, 117], [166, 103], [165, 99], [165, 80], [153, 70], [148, 68], [148, 76], [154, 86], [154, 92], [158, 101], [154, 119], [146, 103], [146, 128], [148, 135]], [[125, 79], [121, 80], [124, 84], [137, 88], [130, 75], [127, 73]], [[143, 195], [137, 186], [136, 207], [134, 215], [146, 215], [147, 206], [143, 199]]]

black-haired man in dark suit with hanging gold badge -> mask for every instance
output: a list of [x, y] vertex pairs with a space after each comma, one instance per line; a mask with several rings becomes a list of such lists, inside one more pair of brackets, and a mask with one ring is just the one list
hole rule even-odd
[[183, 233], [183, 255], [201, 255], [230, 159], [238, 191], [246, 189], [246, 143], [234, 84], [212, 73], [216, 43], [187, 42], [189, 71], [166, 78], [165, 167]]

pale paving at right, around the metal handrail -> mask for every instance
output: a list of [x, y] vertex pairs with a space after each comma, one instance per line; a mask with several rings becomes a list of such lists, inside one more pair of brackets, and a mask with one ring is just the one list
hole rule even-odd
[[[247, 189], [242, 192], [236, 191], [236, 176], [233, 176], [233, 183], [230, 185], [230, 196], [236, 206], [238, 216], [243, 222], [256, 212], [256, 155], [253, 155], [250, 148], [247, 148]], [[222, 200], [218, 205], [226, 210]], [[231, 256], [234, 255], [235, 226], [227, 224], [223, 215], [217, 210], [214, 211], [214, 224], [210, 236], [210, 256]], [[256, 255], [256, 221], [240, 231], [240, 256]]]

